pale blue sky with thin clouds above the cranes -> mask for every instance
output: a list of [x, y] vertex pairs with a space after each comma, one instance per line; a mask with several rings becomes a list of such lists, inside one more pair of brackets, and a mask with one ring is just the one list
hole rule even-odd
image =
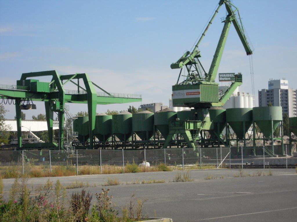
[[[168, 105], [178, 70], [170, 64], [190, 50], [218, 0], [187, 1], [3, 1], [0, 0], [0, 73], [15, 84], [21, 73], [57, 70], [88, 73], [109, 92], [143, 95], [142, 103]], [[255, 48], [255, 91], [269, 78], [286, 78], [296, 88], [297, 1], [234, 0]], [[221, 8], [200, 44], [208, 71], [225, 16]], [[241, 72], [251, 92], [249, 57], [231, 27], [219, 72]], [[44, 79], [45, 81], [47, 79]], [[71, 84], [71, 83], [70, 83]], [[67, 85], [66, 85], [67, 86]], [[73, 89], [72, 85], [66, 88]], [[257, 95], [256, 95], [257, 100]], [[134, 103], [138, 107], [141, 103]], [[132, 105], [132, 104], [131, 104]], [[129, 104], [98, 105], [97, 112]], [[6, 106], [15, 115], [14, 106]], [[86, 105], [71, 104], [73, 113]], [[27, 118], [44, 112], [26, 111]]]

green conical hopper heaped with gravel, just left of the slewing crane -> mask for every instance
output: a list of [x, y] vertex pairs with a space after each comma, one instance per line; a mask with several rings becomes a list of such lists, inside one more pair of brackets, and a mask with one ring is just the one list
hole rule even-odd
[[176, 120], [177, 114], [175, 111], [166, 108], [154, 114], [154, 125], [160, 131], [162, 136], [167, 139], [169, 133], [169, 122]]

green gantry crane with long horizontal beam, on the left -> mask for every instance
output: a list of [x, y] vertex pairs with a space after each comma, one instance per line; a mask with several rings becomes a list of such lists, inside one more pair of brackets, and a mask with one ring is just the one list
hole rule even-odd
[[[51, 76], [50, 83], [40, 82], [32, 77]], [[77, 79], [77, 83], [73, 80]], [[82, 79], [85, 85], [84, 89], [79, 84]], [[63, 83], [64, 81], [64, 83]], [[72, 82], [77, 86], [76, 90], [66, 90], [66, 83]], [[96, 92], [95, 87], [103, 92]], [[141, 95], [135, 94], [112, 94], [103, 90], [91, 81], [86, 73], [76, 73], [73, 75], [58, 75], [55, 70], [23, 73], [17, 85], [0, 85], [0, 98], [15, 104], [17, 120], [18, 148], [48, 148], [63, 149], [64, 141], [64, 114], [65, 103], [86, 103], [89, 112], [89, 131], [90, 131], [90, 149], [93, 148], [93, 130], [95, 128], [95, 117], [97, 104], [129, 103], [142, 101]], [[45, 103], [45, 114], [48, 125], [49, 143], [23, 144], [21, 134], [21, 109], [32, 109], [34, 105], [28, 101], [42, 101]], [[27, 102], [27, 104], [25, 104]], [[36, 106], [35, 106], [36, 107]], [[53, 112], [57, 112], [59, 117], [59, 144], [53, 142]]]

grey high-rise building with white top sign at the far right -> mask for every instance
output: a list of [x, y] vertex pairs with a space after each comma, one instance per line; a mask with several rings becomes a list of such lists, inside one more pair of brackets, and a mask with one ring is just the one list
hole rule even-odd
[[285, 79], [268, 81], [268, 89], [258, 91], [260, 106], [281, 106], [282, 114], [288, 117], [296, 117], [296, 89], [289, 88]]

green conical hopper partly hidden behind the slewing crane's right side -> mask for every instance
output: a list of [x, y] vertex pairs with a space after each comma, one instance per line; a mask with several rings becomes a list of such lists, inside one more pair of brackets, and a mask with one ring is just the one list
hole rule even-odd
[[[209, 109], [209, 117], [210, 121], [214, 123], [213, 130], [209, 130], [211, 137], [215, 137], [214, 132], [220, 135], [226, 126], [226, 110], [222, 107], [211, 107]], [[217, 123], [219, 123], [219, 129]]]

